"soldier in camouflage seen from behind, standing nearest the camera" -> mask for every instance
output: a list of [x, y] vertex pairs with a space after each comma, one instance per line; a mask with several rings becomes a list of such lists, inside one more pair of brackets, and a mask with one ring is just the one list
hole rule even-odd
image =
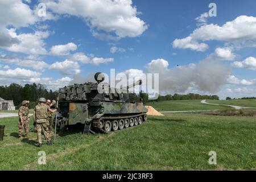
[[42, 131], [44, 134], [44, 138], [46, 138], [47, 140], [47, 145], [52, 144], [47, 127], [48, 110], [52, 113], [55, 112], [54, 110], [48, 109], [46, 105], [46, 98], [40, 98], [39, 105], [35, 106], [33, 114], [34, 121], [36, 122], [36, 132], [38, 134], [38, 147], [42, 147]]

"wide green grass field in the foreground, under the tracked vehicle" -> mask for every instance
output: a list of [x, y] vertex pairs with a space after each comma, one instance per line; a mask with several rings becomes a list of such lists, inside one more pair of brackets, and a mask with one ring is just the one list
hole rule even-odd
[[[254, 117], [166, 114], [108, 135], [75, 133], [53, 146], [17, 138], [18, 120], [0, 119], [7, 137], [0, 142], [0, 170], [212, 170], [256, 169]], [[38, 152], [47, 164], [39, 165]], [[208, 164], [217, 152], [217, 166]]]

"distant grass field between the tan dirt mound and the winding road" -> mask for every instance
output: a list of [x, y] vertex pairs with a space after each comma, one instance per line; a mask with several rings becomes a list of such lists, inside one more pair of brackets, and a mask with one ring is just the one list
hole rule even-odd
[[153, 106], [158, 111], [224, 110], [230, 108], [227, 106], [202, 104], [201, 100], [147, 102], [145, 105]]

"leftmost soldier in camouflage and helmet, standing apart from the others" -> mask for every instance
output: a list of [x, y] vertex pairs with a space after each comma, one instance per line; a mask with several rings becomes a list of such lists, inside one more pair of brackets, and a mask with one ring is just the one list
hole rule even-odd
[[22, 106], [19, 107], [19, 138], [22, 138], [23, 128], [25, 129], [26, 138], [28, 138], [30, 110], [28, 109], [30, 101], [22, 101]]

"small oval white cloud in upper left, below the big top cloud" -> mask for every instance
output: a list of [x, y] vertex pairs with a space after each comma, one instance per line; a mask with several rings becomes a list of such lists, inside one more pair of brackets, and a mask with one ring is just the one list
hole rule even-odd
[[69, 55], [70, 51], [76, 51], [76, 49], [77, 49], [76, 44], [71, 42], [64, 45], [52, 46], [51, 53], [53, 55], [65, 56], [65, 55]]

